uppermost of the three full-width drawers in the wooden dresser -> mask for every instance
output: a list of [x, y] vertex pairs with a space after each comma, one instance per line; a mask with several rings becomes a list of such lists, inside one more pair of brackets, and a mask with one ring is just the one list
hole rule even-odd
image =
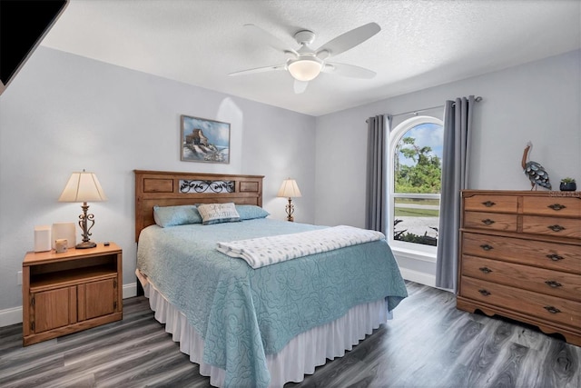
[[463, 254], [581, 274], [581, 246], [521, 240], [487, 234], [462, 234]]

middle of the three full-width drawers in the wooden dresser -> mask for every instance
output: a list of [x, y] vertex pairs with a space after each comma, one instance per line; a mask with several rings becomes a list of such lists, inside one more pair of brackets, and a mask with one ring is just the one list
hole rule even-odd
[[462, 256], [462, 275], [581, 302], [581, 275]]

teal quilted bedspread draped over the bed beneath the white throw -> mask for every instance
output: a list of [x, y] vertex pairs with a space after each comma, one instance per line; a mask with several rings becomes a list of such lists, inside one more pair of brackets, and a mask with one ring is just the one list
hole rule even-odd
[[322, 228], [266, 219], [143, 229], [137, 269], [185, 314], [204, 340], [203, 361], [226, 371], [226, 386], [270, 383], [265, 354], [360, 303], [408, 293], [385, 240], [252, 269], [216, 249], [265, 235]]

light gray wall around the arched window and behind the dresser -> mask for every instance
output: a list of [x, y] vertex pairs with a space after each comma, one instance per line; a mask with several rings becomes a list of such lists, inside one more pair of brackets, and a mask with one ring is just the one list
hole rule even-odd
[[[553, 186], [581, 181], [581, 51], [400, 95], [317, 118], [315, 223], [365, 225], [367, 124], [375, 114], [399, 114], [481, 95], [475, 108], [469, 184], [474, 189], [528, 190], [520, 160], [543, 164]], [[433, 263], [399, 260], [435, 274]]]

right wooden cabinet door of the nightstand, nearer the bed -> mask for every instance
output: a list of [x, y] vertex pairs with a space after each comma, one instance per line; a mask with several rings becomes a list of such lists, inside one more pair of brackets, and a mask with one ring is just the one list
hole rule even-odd
[[114, 313], [117, 308], [117, 282], [106, 279], [78, 285], [79, 321]]

